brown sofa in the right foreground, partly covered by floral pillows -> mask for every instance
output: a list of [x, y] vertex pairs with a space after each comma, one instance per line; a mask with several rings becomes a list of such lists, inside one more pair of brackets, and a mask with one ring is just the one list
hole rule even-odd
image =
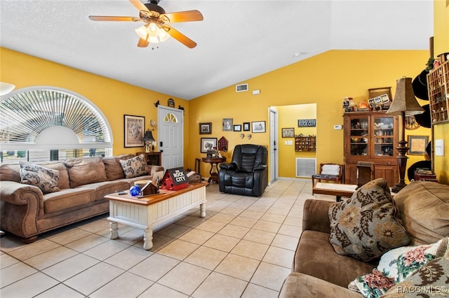
[[[411, 246], [436, 243], [449, 236], [449, 185], [415, 181], [398, 192], [394, 202]], [[305, 201], [292, 273], [284, 281], [279, 297], [363, 297], [347, 287], [356, 277], [371, 273], [379, 259], [362, 262], [335, 253], [330, 244], [328, 215], [333, 204]]]

